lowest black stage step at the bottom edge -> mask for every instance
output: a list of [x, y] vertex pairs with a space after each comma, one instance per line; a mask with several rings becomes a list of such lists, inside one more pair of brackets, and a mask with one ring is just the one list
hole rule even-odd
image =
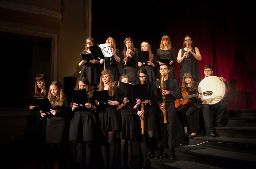
[[204, 165], [196, 162], [191, 161], [184, 161], [184, 160], [169, 160], [168, 158], [164, 159], [150, 159], [149, 162], [151, 163], [151, 169], [220, 169], [219, 167], [211, 166], [211, 165]]

